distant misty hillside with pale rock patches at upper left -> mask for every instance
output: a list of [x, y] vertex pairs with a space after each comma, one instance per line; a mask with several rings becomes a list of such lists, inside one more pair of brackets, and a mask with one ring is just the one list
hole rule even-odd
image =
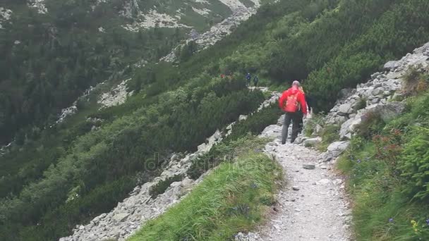
[[256, 0], [2, 1], [0, 144], [39, 135], [85, 90], [129, 78], [190, 34], [211, 44], [199, 35], [228, 19], [236, 26], [259, 6]]

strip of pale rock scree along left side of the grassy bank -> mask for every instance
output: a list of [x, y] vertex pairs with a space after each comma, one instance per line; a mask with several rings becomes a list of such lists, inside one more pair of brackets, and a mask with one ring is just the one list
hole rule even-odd
[[[267, 91], [267, 88], [259, 88]], [[271, 92], [272, 97], [264, 101], [258, 111], [275, 103], [279, 98], [278, 92]], [[239, 119], [246, 119], [247, 116], [241, 116]], [[238, 121], [240, 121], [238, 120]], [[171, 205], [180, 202], [180, 200], [192, 190], [192, 188], [203, 180], [202, 175], [198, 180], [192, 180], [186, 176], [186, 172], [191, 167], [193, 160], [198, 158], [213, 147], [214, 144], [221, 142], [234, 130], [234, 124], [226, 127], [226, 132], [219, 130], [208, 137], [206, 142], [198, 146], [198, 151], [192, 154], [186, 154], [183, 158], [179, 154], [171, 156], [171, 160], [165, 170], [157, 178], [137, 186], [131, 192], [130, 197], [120, 202], [115, 209], [107, 214], [101, 214], [92, 219], [86, 225], [77, 225], [73, 230], [73, 235], [62, 237], [60, 241], [95, 241], [104, 239], [124, 240], [130, 237], [144, 223], [150, 219], [163, 214]], [[164, 193], [152, 197], [151, 190], [159, 183], [169, 178], [182, 176], [182, 180], [171, 183]]]

